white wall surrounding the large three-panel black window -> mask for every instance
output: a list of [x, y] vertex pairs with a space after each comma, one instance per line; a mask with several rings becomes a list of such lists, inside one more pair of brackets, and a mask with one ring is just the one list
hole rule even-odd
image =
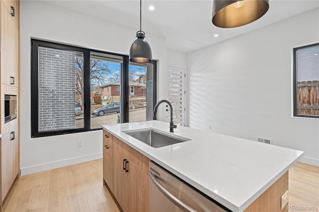
[[[102, 131], [31, 138], [30, 133], [30, 38], [47, 39], [84, 47], [128, 54], [137, 29], [126, 28], [94, 17], [48, 4], [21, 1], [21, 175], [44, 171], [102, 157]], [[158, 59], [158, 99], [166, 85], [165, 39], [148, 33], [153, 57]], [[166, 86], [164, 86], [166, 88]], [[83, 147], [77, 148], [77, 140]]]

